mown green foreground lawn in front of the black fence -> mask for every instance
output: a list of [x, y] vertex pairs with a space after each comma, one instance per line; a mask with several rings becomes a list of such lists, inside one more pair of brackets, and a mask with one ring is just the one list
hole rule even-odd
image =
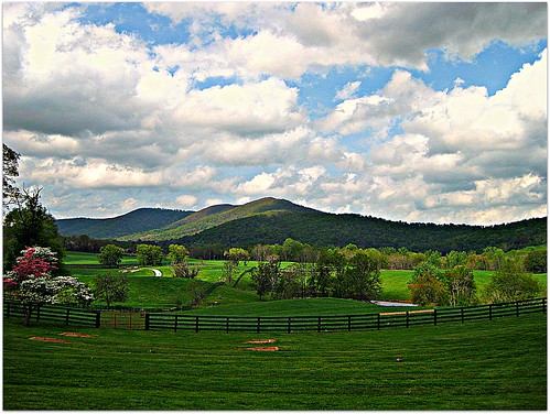
[[[67, 330], [97, 337], [58, 335]], [[245, 349], [261, 338], [280, 350]], [[3, 408], [546, 411], [547, 315], [258, 337], [8, 319]]]

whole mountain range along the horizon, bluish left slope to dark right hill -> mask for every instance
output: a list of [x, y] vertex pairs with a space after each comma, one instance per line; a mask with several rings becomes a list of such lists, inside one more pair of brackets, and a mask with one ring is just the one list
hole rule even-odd
[[[84, 221], [87, 226], [71, 220], [87, 220]], [[68, 224], [73, 225], [71, 231]], [[323, 213], [277, 198], [261, 198], [241, 206], [217, 205], [199, 211], [142, 209], [112, 219], [58, 220], [58, 228], [62, 235], [87, 233], [95, 238], [150, 240], [160, 244], [175, 242], [190, 247], [281, 244], [292, 238], [312, 246], [354, 243], [359, 248], [405, 247], [411, 251], [447, 252], [482, 251], [488, 246], [510, 250], [547, 242], [546, 218], [488, 227], [408, 224]]]

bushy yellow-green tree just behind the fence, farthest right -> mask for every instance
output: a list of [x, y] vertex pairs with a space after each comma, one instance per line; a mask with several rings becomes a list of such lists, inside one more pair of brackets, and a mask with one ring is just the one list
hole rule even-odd
[[524, 273], [519, 261], [506, 259], [485, 285], [482, 298], [485, 303], [514, 302], [533, 298], [542, 293], [540, 282]]

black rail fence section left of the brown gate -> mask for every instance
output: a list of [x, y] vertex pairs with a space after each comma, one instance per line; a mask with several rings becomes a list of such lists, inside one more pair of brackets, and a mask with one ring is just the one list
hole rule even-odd
[[[4, 302], [3, 315], [6, 318], [24, 317], [24, 305], [21, 302]], [[101, 314], [99, 310], [88, 310], [77, 307], [56, 305], [33, 305], [31, 320], [35, 323], [52, 322], [69, 326], [87, 326], [99, 328]]]

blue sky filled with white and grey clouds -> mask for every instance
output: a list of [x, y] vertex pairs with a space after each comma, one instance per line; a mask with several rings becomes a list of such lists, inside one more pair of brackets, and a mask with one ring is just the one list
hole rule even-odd
[[56, 218], [547, 215], [544, 2], [2, 6], [3, 142]]

